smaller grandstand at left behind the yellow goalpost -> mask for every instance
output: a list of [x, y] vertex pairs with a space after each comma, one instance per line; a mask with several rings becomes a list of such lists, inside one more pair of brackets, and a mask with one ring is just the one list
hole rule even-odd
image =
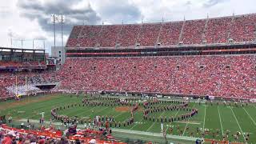
[[46, 61], [45, 50], [0, 47], [0, 99], [15, 98], [26, 94], [26, 90], [38, 90], [30, 84], [46, 82], [44, 78], [50, 78], [47, 68], [52, 67], [50, 62]]

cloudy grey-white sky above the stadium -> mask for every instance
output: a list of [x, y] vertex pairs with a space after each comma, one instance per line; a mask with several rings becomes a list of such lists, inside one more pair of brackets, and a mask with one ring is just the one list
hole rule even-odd
[[[0, 46], [43, 47], [54, 45], [51, 14], [64, 14], [64, 44], [74, 25], [179, 21], [256, 13], [255, 0], [0, 0]], [[61, 46], [61, 26], [57, 25], [57, 46]]]

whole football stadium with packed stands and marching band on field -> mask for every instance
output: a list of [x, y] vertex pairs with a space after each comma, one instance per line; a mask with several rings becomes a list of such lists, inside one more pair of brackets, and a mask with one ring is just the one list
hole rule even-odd
[[255, 46], [233, 14], [74, 25], [63, 65], [0, 47], [0, 142], [253, 144]]

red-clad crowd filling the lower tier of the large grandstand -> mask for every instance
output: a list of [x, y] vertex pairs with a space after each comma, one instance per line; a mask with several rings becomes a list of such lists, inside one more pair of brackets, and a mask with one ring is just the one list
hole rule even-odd
[[256, 97], [253, 55], [67, 58], [61, 90], [110, 90]]

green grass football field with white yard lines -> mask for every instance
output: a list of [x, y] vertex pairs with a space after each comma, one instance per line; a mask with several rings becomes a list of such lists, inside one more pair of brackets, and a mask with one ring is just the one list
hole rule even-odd
[[[46, 121], [49, 121], [51, 118], [50, 110], [53, 107], [67, 106], [72, 103], [80, 103], [82, 105], [82, 98], [84, 98], [84, 96], [81, 96], [80, 98], [72, 96], [72, 98], [70, 98], [70, 95], [68, 94], [57, 94], [23, 98], [19, 102], [14, 100], [1, 102], [0, 115], [6, 114], [7, 118], [11, 115], [14, 118], [14, 122], [20, 122], [21, 119], [27, 118], [39, 122], [39, 118], [41, 118], [40, 113], [43, 111], [45, 112]], [[159, 104], [159, 106], [161, 105], [163, 106], [166, 104]], [[249, 104], [249, 106], [242, 107], [240, 104], [234, 106], [234, 103], [231, 103], [231, 106], [224, 106], [222, 104], [217, 105], [214, 103], [213, 106], [211, 106], [210, 104], [206, 105], [201, 103], [201, 105], [199, 105], [198, 102], [190, 102], [189, 106], [197, 108], [198, 114], [184, 121], [164, 123], [164, 130], [166, 130], [167, 135], [171, 134], [202, 138], [202, 130], [208, 129], [209, 133], [205, 133], [204, 138], [222, 140], [222, 134], [226, 134], [229, 130], [230, 132], [227, 139], [231, 142], [246, 143], [246, 136], [244, 136], [244, 134], [249, 133], [250, 137], [247, 143], [256, 143], [255, 105]], [[58, 114], [65, 114], [70, 117], [78, 116], [78, 118], [94, 118], [96, 115], [113, 115], [117, 122], [124, 122], [127, 118], [130, 118], [130, 111], [119, 111], [116, 107], [117, 106], [76, 106], [66, 110], [59, 110]], [[139, 110], [134, 113], [134, 124], [115, 129], [142, 131], [141, 134], [144, 135], [143, 137], [145, 137], [145, 134], [150, 133], [160, 134], [160, 122], [145, 121], [142, 117], [142, 109], [142, 107], [139, 107]], [[152, 114], [152, 116], [161, 118], [161, 116], [169, 117], [180, 114], [186, 114], [186, 111], [163, 111]], [[172, 128], [172, 133], [170, 132], [170, 128]], [[241, 135], [237, 139], [234, 139], [233, 134], [237, 134], [237, 132], [240, 132]], [[133, 137], [132, 134], [120, 133], [119, 135], [126, 135], [127, 137], [131, 135], [130, 137]], [[151, 140], [150, 138], [154, 140], [154, 138], [150, 136], [152, 135], [149, 135], [146, 138], [149, 138], [148, 140]], [[156, 139], [164, 142], [163, 138]], [[168, 138], [168, 141], [170, 141], [170, 139], [171, 138]], [[174, 141], [179, 142], [177, 139]], [[180, 142], [186, 143], [182, 140], [180, 140]]]

